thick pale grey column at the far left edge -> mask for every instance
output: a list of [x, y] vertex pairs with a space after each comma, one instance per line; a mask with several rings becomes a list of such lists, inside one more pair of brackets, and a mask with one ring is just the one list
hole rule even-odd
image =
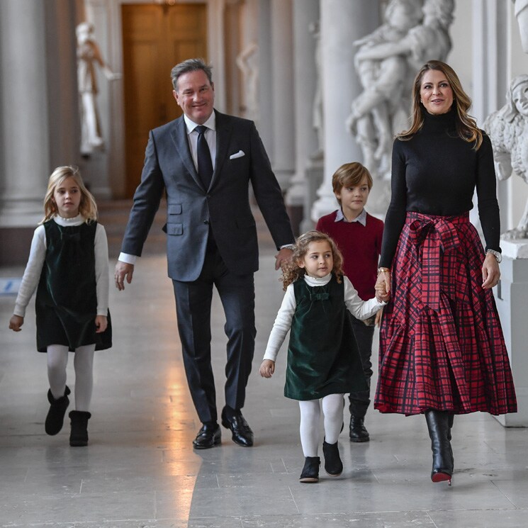
[[0, 228], [33, 226], [43, 216], [50, 174], [45, 5], [0, 2]]

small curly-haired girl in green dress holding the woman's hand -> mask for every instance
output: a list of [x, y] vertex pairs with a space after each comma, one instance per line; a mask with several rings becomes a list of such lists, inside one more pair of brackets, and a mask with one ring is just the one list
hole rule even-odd
[[385, 302], [361, 300], [342, 274], [342, 256], [333, 240], [319, 231], [300, 235], [293, 259], [282, 276], [286, 291], [269, 336], [260, 374], [270, 378], [276, 356], [290, 332], [286, 398], [298, 400], [300, 443], [305, 464], [300, 482], [318, 482], [321, 407], [325, 471], [339, 476], [343, 464], [337, 439], [343, 424], [343, 395], [366, 390], [361, 359], [346, 310], [358, 319], [375, 314]]

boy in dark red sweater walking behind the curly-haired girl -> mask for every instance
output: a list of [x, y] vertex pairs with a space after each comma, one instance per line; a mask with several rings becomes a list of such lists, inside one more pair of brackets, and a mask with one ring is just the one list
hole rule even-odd
[[[381, 252], [383, 222], [365, 210], [373, 181], [369, 171], [361, 163], [346, 163], [332, 176], [332, 188], [340, 208], [322, 216], [315, 227], [332, 237], [343, 254], [344, 274], [357, 289], [363, 300], [375, 294], [378, 259]], [[370, 386], [372, 376], [372, 340], [376, 322], [381, 318], [361, 321], [349, 314], [354, 327], [363, 370]], [[351, 442], [369, 442], [369, 432], [364, 425], [366, 410], [370, 404], [370, 391], [349, 395]]]

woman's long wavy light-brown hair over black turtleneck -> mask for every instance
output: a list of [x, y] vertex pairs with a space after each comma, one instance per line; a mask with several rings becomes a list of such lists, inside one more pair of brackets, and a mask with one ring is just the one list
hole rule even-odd
[[471, 99], [464, 89], [462, 89], [460, 79], [454, 69], [441, 60], [429, 60], [429, 62], [426, 62], [422, 66], [420, 72], [417, 73], [415, 82], [412, 85], [412, 124], [409, 130], [404, 130], [397, 135], [398, 139], [403, 141], [410, 140], [424, 124], [422, 108], [420, 106], [420, 89], [425, 72], [428, 72], [430, 69], [442, 72], [446, 76], [449, 86], [451, 86], [451, 90], [453, 91], [453, 106], [457, 117], [456, 132], [461, 139], [474, 144], [473, 150], [478, 150], [482, 145], [482, 131], [477, 127], [476, 120], [468, 114], [468, 110], [471, 108]]

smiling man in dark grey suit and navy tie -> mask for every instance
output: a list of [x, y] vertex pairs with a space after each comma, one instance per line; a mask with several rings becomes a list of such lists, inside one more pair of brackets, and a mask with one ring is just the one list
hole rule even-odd
[[[241, 409], [254, 352], [254, 271], [258, 269], [249, 182], [279, 249], [276, 269], [291, 257], [293, 232], [281, 189], [254, 123], [213, 108], [211, 69], [200, 59], [171, 72], [184, 116], [150, 131], [141, 183], [116, 264], [116, 287], [132, 281], [163, 191], [167, 192], [167, 261], [174, 285], [184, 366], [202, 427], [196, 449], [220, 444], [210, 361], [213, 285], [225, 311], [228, 361], [222, 425], [242, 446], [253, 432]], [[200, 127], [199, 125], [203, 125]]]

